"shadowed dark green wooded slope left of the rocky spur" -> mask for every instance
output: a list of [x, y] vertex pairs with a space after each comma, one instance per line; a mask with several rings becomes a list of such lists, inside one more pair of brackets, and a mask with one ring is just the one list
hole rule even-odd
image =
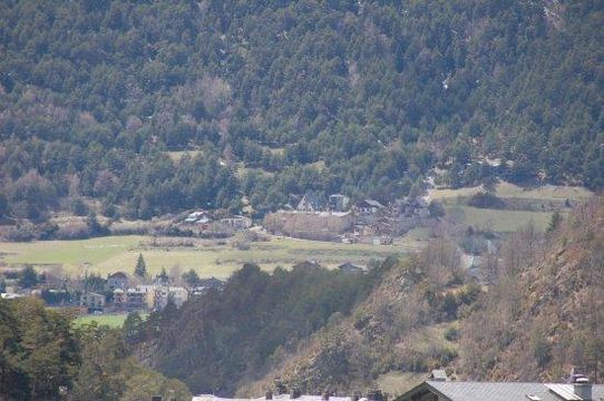
[[243, 378], [257, 379], [338, 315], [348, 315], [379, 281], [309, 263], [269, 274], [244, 265], [224, 291], [211, 291], [181, 310], [166, 307], [127, 331], [153, 368], [176, 376], [195, 393], [233, 394]]

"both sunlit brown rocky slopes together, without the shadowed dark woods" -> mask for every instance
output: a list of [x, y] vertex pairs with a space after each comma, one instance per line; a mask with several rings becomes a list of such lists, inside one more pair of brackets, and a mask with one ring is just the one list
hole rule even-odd
[[[571, 368], [601, 378], [604, 343], [604, 204], [587, 200], [540, 238], [510, 234], [494, 284], [483, 291], [456, 266], [441, 239], [393, 264], [347, 319], [276, 361], [238, 393], [275, 383], [306, 392], [376, 388], [399, 392], [447, 368], [458, 379], [561, 381]], [[468, 281], [468, 284], [464, 284]], [[458, 330], [459, 329], [459, 330]], [[601, 380], [601, 379], [598, 379]]]

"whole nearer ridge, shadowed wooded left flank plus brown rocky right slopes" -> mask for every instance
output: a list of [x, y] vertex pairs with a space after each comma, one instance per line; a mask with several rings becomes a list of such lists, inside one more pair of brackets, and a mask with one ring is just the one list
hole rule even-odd
[[528, 225], [484, 255], [480, 282], [455, 243], [436, 238], [369, 275], [249, 265], [224, 293], [129, 330], [143, 333], [146, 363], [195, 393], [350, 393], [437, 368], [458, 380], [556, 382], [573, 366], [601, 378], [604, 203], [555, 222], [546, 236]]

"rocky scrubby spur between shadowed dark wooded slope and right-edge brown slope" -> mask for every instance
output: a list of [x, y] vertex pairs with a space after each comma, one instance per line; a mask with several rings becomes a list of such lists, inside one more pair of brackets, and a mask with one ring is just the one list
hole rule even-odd
[[242, 382], [238, 394], [262, 393], [275, 383], [308, 393], [350, 393], [376, 388], [388, 373], [409, 373], [413, 383], [430, 369], [449, 364], [458, 354], [458, 317], [480, 293], [467, 280], [456, 246], [435, 239], [410, 260], [386, 265], [379, 285], [350, 316], [330, 320], [309, 341], [280, 355], [264, 378]]

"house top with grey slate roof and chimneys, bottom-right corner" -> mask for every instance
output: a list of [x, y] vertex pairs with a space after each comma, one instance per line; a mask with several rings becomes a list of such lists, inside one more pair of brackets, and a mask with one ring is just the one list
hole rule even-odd
[[571, 383], [458, 382], [444, 372], [415, 387], [394, 401], [595, 401], [604, 399], [604, 384], [582, 375]]

